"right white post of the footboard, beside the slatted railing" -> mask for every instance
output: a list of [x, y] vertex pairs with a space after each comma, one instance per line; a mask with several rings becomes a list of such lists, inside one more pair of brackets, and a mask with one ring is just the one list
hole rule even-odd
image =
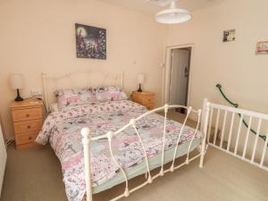
[[208, 115], [209, 115], [209, 105], [210, 103], [207, 99], [204, 99], [203, 103], [203, 110], [202, 110], [202, 120], [201, 120], [201, 132], [203, 133], [203, 139], [201, 144], [201, 151], [200, 151], [200, 163], [199, 167], [203, 168], [204, 163], [204, 156], [205, 156], [205, 140], [206, 140], [206, 133], [207, 133], [207, 123], [208, 123]]

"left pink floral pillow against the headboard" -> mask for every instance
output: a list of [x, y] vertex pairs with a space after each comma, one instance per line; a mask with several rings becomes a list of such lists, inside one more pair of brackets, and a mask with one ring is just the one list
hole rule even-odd
[[60, 89], [55, 91], [59, 109], [67, 106], [88, 105], [96, 103], [96, 94], [92, 88]]

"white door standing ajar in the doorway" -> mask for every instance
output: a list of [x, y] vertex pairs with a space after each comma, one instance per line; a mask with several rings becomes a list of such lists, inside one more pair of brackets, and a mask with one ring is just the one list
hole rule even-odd
[[189, 51], [172, 50], [169, 104], [187, 105]]

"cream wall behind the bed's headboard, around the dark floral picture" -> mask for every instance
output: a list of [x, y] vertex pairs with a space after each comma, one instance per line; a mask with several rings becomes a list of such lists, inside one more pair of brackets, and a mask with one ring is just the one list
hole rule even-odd
[[[107, 60], [76, 58], [75, 22], [107, 30]], [[143, 72], [144, 88], [155, 91], [157, 105], [161, 101], [166, 29], [151, 16], [94, 0], [8, 0], [0, 1], [0, 24], [0, 110], [9, 136], [15, 91], [8, 77], [13, 72], [25, 76], [24, 97], [42, 88], [42, 71], [124, 71], [128, 92], [138, 88], [137, 76]]]

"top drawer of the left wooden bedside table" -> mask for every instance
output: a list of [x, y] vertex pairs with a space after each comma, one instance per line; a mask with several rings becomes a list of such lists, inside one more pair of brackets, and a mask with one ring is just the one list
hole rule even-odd
[[13, 121], [29, 121], [42, 119], [42, 108], [30, 108], [30, 109], [21, 109], [13, 110]]

